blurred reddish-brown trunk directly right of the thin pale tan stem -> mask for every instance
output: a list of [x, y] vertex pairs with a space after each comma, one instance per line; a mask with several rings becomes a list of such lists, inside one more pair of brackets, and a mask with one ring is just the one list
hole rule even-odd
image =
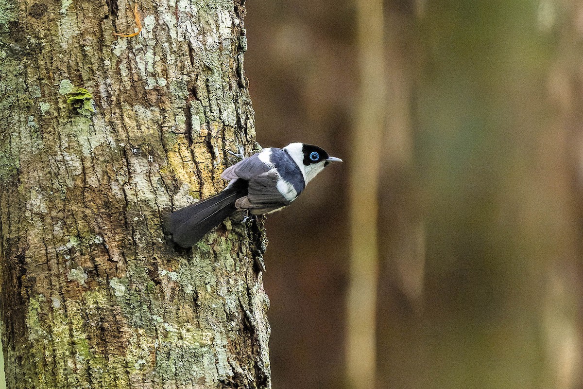
[[388, 102], [378, 234], [378, 387], [422, 388], [425, 226], [413, 160], [413, 93], [422, 50], [413, 1], [385, 3]]

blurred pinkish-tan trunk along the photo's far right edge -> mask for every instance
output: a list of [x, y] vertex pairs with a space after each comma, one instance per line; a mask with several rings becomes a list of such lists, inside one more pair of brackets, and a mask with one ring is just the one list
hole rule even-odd
[[557, 388], [583, 386], [582, 16], [580, 1], [544, 1], [539, 9], [540, 28], [556, 44], [546, 85], [554, 116], [539, 153], [550, 160], [545, 180], [554, 188], [553, 198], [564, 202], [554, 215], [558, 232], [564, 233], [559, 237], [563, 251], [556, 255], [545, 299], [547, 343]]

